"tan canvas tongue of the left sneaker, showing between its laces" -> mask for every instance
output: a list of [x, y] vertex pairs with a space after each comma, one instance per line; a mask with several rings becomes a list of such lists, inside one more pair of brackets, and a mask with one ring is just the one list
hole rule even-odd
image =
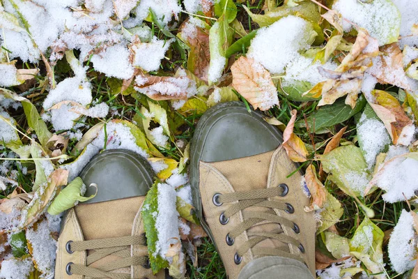
[[[144, 198], [144, 196], [130, 197], [75, 206], [75, 213], [82, 228], [84, 240], [132, 235], [134, 218], [144, 202]], [[91, 251], [88, 251], [88, 255], [90, 254]], [[120, 257], [109, 255], [94, 262], [91, 266], [104, 266], [116, 259], [120, 259]], [[130, 269], [127, 272], [130, 272]]]

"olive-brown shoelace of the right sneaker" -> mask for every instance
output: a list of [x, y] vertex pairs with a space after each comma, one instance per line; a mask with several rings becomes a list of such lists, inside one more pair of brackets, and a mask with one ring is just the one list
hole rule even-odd
[[[262, 206], [268, 209], [280, 209], [285, 211], [288, 214], [295, 212], [295, 209], [291, 204], [286, 202], [271, 201], [268, 200], [269, 197], [284, 197], [288, 193], [288, 186], [286, 184], [280, 184], [279, 187], [275, 188], [266, 188], [261, 190], [249, 190], [245, 192], [235, 192], [235, 193], [226, 193], [226, 194], [215, 194], [213, 196], [213, 203], [216, 206], [221, 206], [224, 203], [232, 203], [226, 211], [224, 211], [219, 216], [219, 222], [222, 225], [226, 225], [229, 222], [229, 218], [235, 213], [242, 211], [242, 217], [244, 221], [234, 227], [231, 232], [226, 234], [226, 243], [229, 246], [233, 245], [235, 237], [239, 236], [243, 232], [247, 231], [254, 225], [261, 223], [263, 221], [268, 221], [269, 223], [277, 223], [281, 226], [286, 226], [291, 229], [296, 234], [300, 233], [299, 226], [296, 223], [293, 223], [291, 220], [286, 219], [285, 217], [277, 216], [272, 213], [265, 212], [255, 212], [255, 211], [243, 211], [244, 209], [249, 208], [250, 206]], [[290, 257], [292, 259], [297, 259], [301, 262], [304, 262], [300, 255], [291, 254], [286, 250], [280, 248], [254, 248], [258, 243], [265, 239], [276, 239], [283, 243], [290, 243], [293, 246], [299, 248], [300, 252], [304, 253], [304, 246], [302, 243], [294, 239], [292, 236], [286, 236], [283, 232], [281, 233], [269, 233], [269, 232], [248, 232], [249, 240], [240, 246], [240, 248], [235, 252], [234, 262], [235, 264], [240, 264], [242, 261], [242, 255], [247, 252], [247, 250], [253, 250], [255, 255], [270, 255], [270, 256], [279, 256], [279, 257]]]

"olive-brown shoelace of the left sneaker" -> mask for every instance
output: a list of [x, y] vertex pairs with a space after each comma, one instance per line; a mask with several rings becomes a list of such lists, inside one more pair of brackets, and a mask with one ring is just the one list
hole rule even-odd
[[[144, 235], [139, 235], [88, 241], [68, 241], [65, 245], [65, 250], [69, 253], [84, 250], [95, 250], [95, 252], [88, 255], [86, 266], [70, 262], [67, 264], [65, 272], [68, 275], [77, 274], [87, 276], [89, 278], [130, 279], [130, 274], [114, 273], [110, 271], [138, 265], [142, 265], [144, 268], [149, 268], [148, 257], [131, 256], [131, 245], [146, 246], [146, 237]], [[116, 255], [121, 257], [121, 259], [107, 263], [106, 265], [98, 268], [90, 266], [93, 262], [97, 262], [99, 259], [102, 259], [107, 255]]]

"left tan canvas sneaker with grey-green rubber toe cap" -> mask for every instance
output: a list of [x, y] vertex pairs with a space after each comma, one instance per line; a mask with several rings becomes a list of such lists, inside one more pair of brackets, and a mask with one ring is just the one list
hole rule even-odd
[[[98, 194], [68, 210], [58, 240], [55, 278], [164, 278], [150, 269], [141, 207], [153, 169], [136, 153], [109, 150], [80, 174]], [[86, 195], [94, 189], [88, 188]]]

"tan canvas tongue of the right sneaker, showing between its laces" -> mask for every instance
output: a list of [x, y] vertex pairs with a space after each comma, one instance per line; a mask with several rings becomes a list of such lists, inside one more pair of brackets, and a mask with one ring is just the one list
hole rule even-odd
[[[270, 162], [275, 150], [261, 153], [255, 156], [226, 160], [221, 162], [210, 163], [219, 172], [221, 172], [229, 183], [231, 183], [235, 192], [265, 189], [267, 188], [268, 174]], [[266, 209], [259, 206], [251, 206], [243, 211], [256, 211], [274, 213], [272, 209]], [[251, 232], [269, 232], [281, 233], [283, 230], [280, 225], [268, 223], [256, 225], [247, 230]], [[284, 248], [288, 250], [288, 245], [274, 239], [265, 239], [258, 243], [254, 248]]]

